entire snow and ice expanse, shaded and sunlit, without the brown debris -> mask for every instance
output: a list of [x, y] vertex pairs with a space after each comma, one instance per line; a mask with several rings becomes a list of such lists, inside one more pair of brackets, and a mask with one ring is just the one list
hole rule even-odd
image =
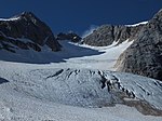
[[0, 62], [0, 120], [161, 121], [161, 117], [143, 116], [135, 108], [123, 105], [103, 107], [114, 100], [120, 103], [107, 86], [102, 88], [103, 77], [112, 82], [117, 81], [116, 77], [122, 88], [135, 93], [136, 98], [162, 109], [160, 82], [108, 71], [113, 70], [118, 56], [131, 43], [93, 48], [65, 41], [62, 52], [50, 53], [45, 46], [41, 53], [0, 51], [3, 59]]

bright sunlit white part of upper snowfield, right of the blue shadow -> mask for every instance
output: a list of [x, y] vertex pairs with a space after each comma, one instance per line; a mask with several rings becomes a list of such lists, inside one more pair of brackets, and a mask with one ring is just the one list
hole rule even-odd
[[91, 56], [83, 56], [83, 57], [75, 57], [66, 59], [68, 65], [72, 64], [72, 67], [76, 68], [90, 68], [90, 69], [102, 69], [102, 70], [114, 70], [114, 64], [126, 50], [133, 41], [124, 41], [123, 43], [117, 45], [118, 42], [113, 42], [111, 45], [108, 46], [90, 46], [90, 45], [81, 45], [83, 48], [89, 48], [99, 52], [98, 55], [91, 55]]

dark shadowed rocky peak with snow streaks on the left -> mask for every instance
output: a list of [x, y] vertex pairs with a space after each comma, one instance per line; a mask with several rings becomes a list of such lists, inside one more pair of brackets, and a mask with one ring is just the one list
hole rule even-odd
[[51, 29], [31, 12], [0, 19], [0, 49], [14, 52], [16, 48], [23, 50], [31, 48], [41, 51], [43, 45], [48, 45], [52, 51], [60, 50]]

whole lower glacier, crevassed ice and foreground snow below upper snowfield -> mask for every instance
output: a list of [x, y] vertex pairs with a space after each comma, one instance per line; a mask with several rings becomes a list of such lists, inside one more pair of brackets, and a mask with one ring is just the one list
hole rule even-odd
[[125, 99], [144, 100], [162, 109], [162, 83], [157, 80], [92, 69], [8, 62], [0, 65], [0, 120], [136, 121], [131, 117], [141, 121], [162, 120], [122, 105], [98, 108], [123, 104]]

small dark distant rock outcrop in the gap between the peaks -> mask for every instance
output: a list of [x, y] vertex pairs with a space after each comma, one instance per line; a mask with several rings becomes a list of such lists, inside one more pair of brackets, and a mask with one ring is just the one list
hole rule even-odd
[[75, 32], [69, 32], [69, 33], [58, 33], [57, 35], [57, 40], [70, 40], [71, 42], [80, 42], [81, 41], [81, 37], [79, 37], [77, 33]]

